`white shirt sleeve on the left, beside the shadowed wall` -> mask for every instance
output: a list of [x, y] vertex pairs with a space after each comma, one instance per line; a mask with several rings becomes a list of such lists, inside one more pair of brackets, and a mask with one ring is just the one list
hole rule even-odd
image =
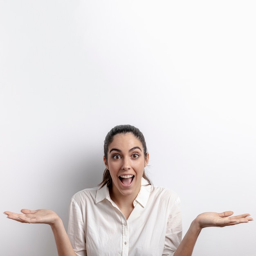
[[85, 243], [85, 223], [82, 211], [74, 198], [70, 200], [67, 235], [78, 256], [87, 256]]

